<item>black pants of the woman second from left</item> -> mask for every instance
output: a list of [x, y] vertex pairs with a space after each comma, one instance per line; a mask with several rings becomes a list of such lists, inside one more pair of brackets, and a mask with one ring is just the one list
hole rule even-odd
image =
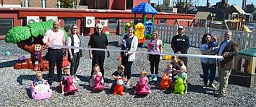
[[73, 54], [73, 60], [71, 61], [71, 66], [70, 66], [70, 74], [72, 76], [77, 74], [77, 68], [79, 66], [79, 63], [80, 63], [79, 52], [76, 52]]

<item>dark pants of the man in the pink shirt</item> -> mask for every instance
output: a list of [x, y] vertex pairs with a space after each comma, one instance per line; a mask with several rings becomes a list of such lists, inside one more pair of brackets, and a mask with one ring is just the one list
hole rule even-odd
[[61, 74], [62, 74], [62, 61], [63, 61], [62, 49], [48, 48], [48, 61], [49, 61], [48, 80], [50, 82], [54, 81], [54, 67], [56, 64], [58, 81], [60, 81]]

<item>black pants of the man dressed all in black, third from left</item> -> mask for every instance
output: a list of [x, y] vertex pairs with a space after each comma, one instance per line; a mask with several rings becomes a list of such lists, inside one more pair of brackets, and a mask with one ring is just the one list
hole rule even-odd
[[104, 77], [104, 60], [105, 60], [105, 51], [93, 51], [93, 62], [92, 62], [92, 71], [90, 72], [90, 78], [93, 77], [93, 67], [95, 64], [98, 64], [101, 69], [102, 77]]

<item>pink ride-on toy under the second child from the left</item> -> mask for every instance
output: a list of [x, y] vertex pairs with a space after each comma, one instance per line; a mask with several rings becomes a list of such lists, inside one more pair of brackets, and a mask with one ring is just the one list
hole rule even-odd
[[67, 86], [64, 86], [64, 93], [75, 93], [78, 88], [73, 84], [73, 77], [67, 77]]

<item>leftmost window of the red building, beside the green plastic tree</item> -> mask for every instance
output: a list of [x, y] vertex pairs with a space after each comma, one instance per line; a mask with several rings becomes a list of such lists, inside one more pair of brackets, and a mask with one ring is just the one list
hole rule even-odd
[[6, 35], [13, 27], [13, 19], [0, 19], [0, 35]]

